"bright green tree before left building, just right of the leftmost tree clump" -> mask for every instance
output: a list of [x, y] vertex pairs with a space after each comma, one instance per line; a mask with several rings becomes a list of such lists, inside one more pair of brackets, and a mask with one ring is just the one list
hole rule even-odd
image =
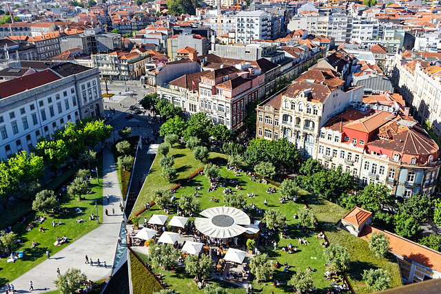
[[55, 173], [68, 159], [68, 149], [63, 140], [40, 140], [37, 143], [36, 154], [42, 156], [48, 169]]

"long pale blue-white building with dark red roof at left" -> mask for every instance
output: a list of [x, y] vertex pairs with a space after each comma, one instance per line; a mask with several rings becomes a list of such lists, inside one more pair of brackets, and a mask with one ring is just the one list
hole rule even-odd
[[0, 109], [0, 158], [30, 151], [68, 121], [103, 115], [99, 71], [61, 63], [3, 82]]

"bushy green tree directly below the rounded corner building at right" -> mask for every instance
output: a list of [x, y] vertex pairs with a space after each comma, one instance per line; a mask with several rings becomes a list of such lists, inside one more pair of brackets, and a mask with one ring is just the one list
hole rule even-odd
[[418, 222], [425, 222], [433, 218], [432, 207], [433, 200], [429, 196], [415, 193], [412, 197], [404, 199], [404, 202], [398, 207], [398, 212], [408, 214]]

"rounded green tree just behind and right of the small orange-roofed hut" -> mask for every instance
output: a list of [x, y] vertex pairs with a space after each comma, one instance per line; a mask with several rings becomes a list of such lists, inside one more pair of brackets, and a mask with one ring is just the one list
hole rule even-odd
[[378, 183], [367, 185], [358, 195], [357, 200], [362, 209], [373, 213], [379, 213], [383, 207], [393, 204], [393, 196], [389, 194], [389, 189]]

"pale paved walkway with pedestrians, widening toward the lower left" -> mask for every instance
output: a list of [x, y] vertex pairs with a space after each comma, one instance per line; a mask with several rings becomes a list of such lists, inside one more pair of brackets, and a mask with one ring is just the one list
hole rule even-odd
[[[123, 214], [119, 209], [119, 202], [122, 201], [121, 189], [119, 187], [118, 174], [114, 165], [114, 159], [110, 149], [105, 148], [103, 154], [103, 211], [115, 209], [115, 216], [104, 216], [103, 211], [99, 215], [101, 226], [90, 233], [79, 238], [65, 249], [52, 255], [49, 260], [41, 262], [30, 271], [21, 275], [14, 281], [16, 292], [29, 293], [29, 281], [34, 285], [32, 293], [43, 293], [56, 290], [54, 280], [57, 279], [57, 267], [61, 273], [69, 268], [81, 269], [88, 280], [96, 281], [107, 278], [112, 273], [112, 264], [116, 251], [117, 239], [121, 229]], [[110, 202], [107, 203], [105, 196], [110, 195]], [[101, 264], [106, 262], [107, 268], [98, 267], [96, 264], [90, 266], [85, 264], [85, 255], [92, 258], [94, 262], [99, 258]], [[3, 293], [6, 288], [1, 288]]]

